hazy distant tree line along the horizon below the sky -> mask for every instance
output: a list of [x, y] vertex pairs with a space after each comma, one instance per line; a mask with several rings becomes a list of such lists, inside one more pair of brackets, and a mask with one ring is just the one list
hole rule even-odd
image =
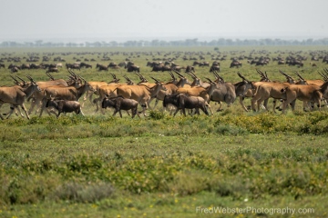
[[36, 40], [34, 42], [15, 42], [3, 41], [0, 47], [160, 47], [160, 46], [233, 46], [233, 45], [328, 45], [328, 38], [322, 39], [304, 39], [304, 40], [284, 40], [284, 39], [229, 39], [219, 38], [217, 40], [199, 41], [198, 38], [165, 41], [154, 39], [146, 40], [128, 40], [126, 42], [117, 41], [96, 41], [96, 42], [69, 42], [69, 43], [54, 43]]

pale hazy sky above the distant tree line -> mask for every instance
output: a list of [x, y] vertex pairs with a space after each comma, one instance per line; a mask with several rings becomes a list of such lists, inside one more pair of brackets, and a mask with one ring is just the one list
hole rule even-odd
[[5, 40], [328, 37], [327, 0], [3, 0]]

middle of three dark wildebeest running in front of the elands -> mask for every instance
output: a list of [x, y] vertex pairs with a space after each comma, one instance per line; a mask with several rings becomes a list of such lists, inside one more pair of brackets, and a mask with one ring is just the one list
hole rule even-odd
[[136, 114], [138, 115], [138, 117], [140, 117], [140, 115], [138, 114], [138, 102], [134, 99], [126, 99], [126, 98], [123, 98], [122, 96], [117, 96], [117, 97], [112, 97], [112, 98], [106, 97], [102, 101], [101, 107], [102, 108], [107, 108], [107, 107], [114, 108], [115, 111], [114, 111], [113, 116], [115, 116], [115, 114], [119, 113], [119, 116], [122, 118], [121, 110], [124, 110], [124, 111], [131, 110], [132, 118], [134, 118]]

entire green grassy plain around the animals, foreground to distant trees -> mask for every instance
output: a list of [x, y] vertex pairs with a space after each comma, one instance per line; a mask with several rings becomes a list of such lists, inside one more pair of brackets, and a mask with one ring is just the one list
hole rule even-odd
[[[157, 50], [158, 49], [158, 50]], [[141, 74], [163, 81], [169, 74], [150, 73], [148, 55], [133, 52], [171, 51], [211, 52], [213, 48], [46, 48], [4, 51], [26, 56], [54, 52], [72, 52], [65, 57], [110, 56], [114, 62], [130, 56], [140, 65]], [[325, 50], [320, 47], [220, 48], [230, 56], [249, 54], [251, 50], [276, 53]], [[232, 54], [232, 51], [234, 54]], [[77, 54], [87, 52], [87, 54]], [[89, 54], [94, 52], [95, 54]], [[131, 55], [123, 55], [130, 52]], [[172, 55], [172, 54], [171, 54]], [[195, 54], [193, 54], [195, 55]], [[261, 55], [261, 54], [258, 54]], [[210, 61], [210, 55], [206, 55]], [[181, 65], [192, 64], [175, 61]], [[104, 62], [104, 64], [108, 62]], [[237, 82], [240, 71], [250, 80], [258, 80], [255, 66], [243, 61], [240, 69], [230, 69], [230, 61], [221, 62], [221, 75]], [[284, 80], [299, 71], [306, 78], [320, 78], [326, 64], [310, 60], [303, 68], [271, 62], [259, 67], [273, 80]], [[210, 76], [208, 68], [196, 68], [201, 78]], [[2, 84], [12, 84], [7, 69], [0, 69]], [[37, 81], [46, 80], [43, 70], [20, 71]], [[107, 72], [81, 70], [89, 81], [110, 80]], [[114, 72], [122, 78], [127, 74]], [[55, 77], [65, 78], [66, 70]], [[211, 103], [212, 104], [212, 103]], [[249, 100], [247, 102], [249, 104]], [[27, 104], [29, 107], [29, 104]], [[217, 108], [218, 105], [212, 104]], [[5, 111], [6, 108], [1, 109]], [[293, 208], [294, 217], [325, 217], [328, 206], [328, 112], [287, 114], [245, 113], [236, 101], [231, 108], [211, 116], [177, 115], [149, 111], [148, 117], [121, 119], [111, 112], [96, 114], [86, 103], [85, 117], [67, 114], [56, 119], [32, 115], [30, 120], [12, 116], [0, 123], [0, 216], [1, 217], [290, 217], [292, 213], [263, 213], [261, 208]], [[199, 208], [199, 209], [197, 209]], [[205, 213], [212, 208], [257, 208], [249, 213]], [[303, 209], [304, 213], [297, 213]], [[305, 211], [310, 209], [309, 211]], [[200, 213], [202, 210], [203, 213]], [[314, 211], [313, 211], [314, 210]], [[306, 212], [306, 213], [305, 213]]]

